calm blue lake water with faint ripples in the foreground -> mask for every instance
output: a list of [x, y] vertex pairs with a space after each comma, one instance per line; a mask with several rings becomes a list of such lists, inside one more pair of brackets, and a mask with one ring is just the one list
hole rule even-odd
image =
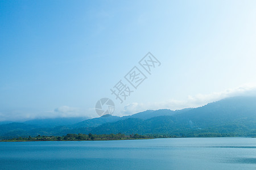
[[256, 138], [0, 142], [0, 169], [256, 169]]

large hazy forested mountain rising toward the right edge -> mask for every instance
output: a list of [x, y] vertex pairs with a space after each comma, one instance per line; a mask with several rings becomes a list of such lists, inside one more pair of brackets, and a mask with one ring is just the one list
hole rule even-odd
[[178, 136], [200, 136], [207, 133], [255, 135], [256, 97], [232, 97], [172, 116], [158, 116], [147, 120], [129, 118], [103, 124], [91, 131], [97, 134], [119, 132]]

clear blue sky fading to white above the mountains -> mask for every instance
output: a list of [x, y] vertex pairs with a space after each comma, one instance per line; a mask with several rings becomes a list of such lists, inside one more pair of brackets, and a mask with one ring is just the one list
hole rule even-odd
[[104, 97], [123, 116], [251, 94], [255, 21], [256, 1], [0, 1], [0, 121], [98, 117]]

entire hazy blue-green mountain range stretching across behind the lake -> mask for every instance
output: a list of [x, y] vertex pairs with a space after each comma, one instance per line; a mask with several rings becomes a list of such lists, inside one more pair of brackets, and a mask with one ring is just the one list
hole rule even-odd
[[[81, 120], [84, 121], [81, 121]], [[131, 116], [32, 120], [0, 125], [0, 137], [84, 134], [168, 134], [177, 137], [256, 136], [256, 97], [222, 99], [198, 108], [160, 109]]]

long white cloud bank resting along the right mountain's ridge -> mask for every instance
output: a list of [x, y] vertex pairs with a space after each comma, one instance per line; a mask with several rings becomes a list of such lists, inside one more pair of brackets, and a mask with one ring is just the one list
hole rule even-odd
[[212, 94], [197, 94], [195, 96], [188, 96], [186, 100], [175, 100], [170, 99], [168, 101], [162, 101], [158, 103], [131, 103], [126, 105], [121, 111], [120, 116], [130, 115], [148, 109], [184, 109], [184, 108], [195, 108], [202, 105], [211, 103], [213, 101], [221, 100], [226, 97], [242, 96], [242, 95], [255, 95], [256, 86], [253, 84], [246, 84], [238, 88], [229, 88], [221, 92], [213, 92]]

